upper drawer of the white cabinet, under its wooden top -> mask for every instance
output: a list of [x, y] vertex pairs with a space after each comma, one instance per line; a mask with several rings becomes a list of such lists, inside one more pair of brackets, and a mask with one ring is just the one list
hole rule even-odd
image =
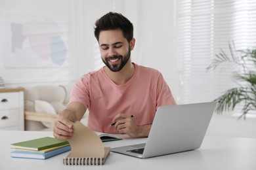
[[0, 109], [14, 109], [20, 107], [19, 93], [0, 93]]

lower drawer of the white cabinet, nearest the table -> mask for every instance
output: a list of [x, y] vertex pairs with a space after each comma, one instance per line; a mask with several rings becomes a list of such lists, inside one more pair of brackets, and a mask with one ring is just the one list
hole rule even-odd
[[10, 109], [0, 111], [0, 127], [19, 126], [20, 110]]

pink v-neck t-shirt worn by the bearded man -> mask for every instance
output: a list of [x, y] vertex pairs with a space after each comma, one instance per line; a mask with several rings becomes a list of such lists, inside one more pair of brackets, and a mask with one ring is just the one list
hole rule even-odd
[[83, 75], [72, 90], [72, 102], [85, 105], [89, 109], [88, 127], [104, 133], [116, 133], [110, 124], [118, 113], [135, 115], [137, 125], [152, 124], [158, 107], [176, 105], [161, 73], [137, 64], [135, 73], [123, 85], [116, 85], [103, 68]]

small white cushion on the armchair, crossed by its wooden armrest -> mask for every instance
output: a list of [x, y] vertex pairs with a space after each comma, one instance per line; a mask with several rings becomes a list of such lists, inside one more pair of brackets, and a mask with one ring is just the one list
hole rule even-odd
[[[48, 114], [56, 114], [56, 111], [50, 103], [42, 100], [35, 100], [35, 112], [48, 113]], [[46, 127], [51, 127], [51, 123], [42, 122], [42, 124]]]

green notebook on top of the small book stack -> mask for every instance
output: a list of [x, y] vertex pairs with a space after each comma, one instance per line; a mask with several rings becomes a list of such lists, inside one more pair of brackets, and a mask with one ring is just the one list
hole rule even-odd
[[53, 148], [55, 146], [62, 146], [65, 144], [69, 144], [68, 141], [60, 141], [53, 137], [42, 137], [39, 139], [30, 140], [30, 141], [12, 143], [11, 148], [21, 148], [21, 149], [28, 149], [28, 150], [44, 150], [47, 148]]

